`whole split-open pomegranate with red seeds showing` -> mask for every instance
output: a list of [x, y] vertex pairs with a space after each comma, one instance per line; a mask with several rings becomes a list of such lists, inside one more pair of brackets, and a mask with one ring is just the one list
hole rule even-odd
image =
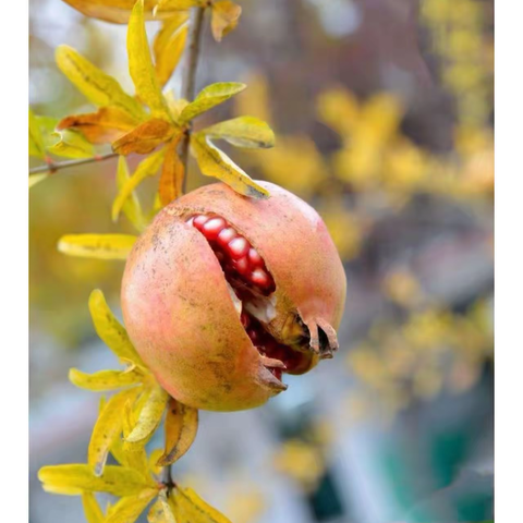
[[222, 183], [172, 202], [122, 283], [125, 326], [160, 385], [197, 409], [236, 411], [287, 389], [338, 349], [345, 275], [319, 215], [279, 187]]

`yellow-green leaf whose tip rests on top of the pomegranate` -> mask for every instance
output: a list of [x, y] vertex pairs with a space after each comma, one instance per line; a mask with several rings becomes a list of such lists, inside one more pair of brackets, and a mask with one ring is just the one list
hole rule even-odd
[[210, 144], [199, 133], [191, 136], [191, 148], [198, 167], [206, 177], [218, 178], [234, 191], [253, 198], [268, 198], [267, 190], [258, 185], [246, 172], [238, 167], [222, 150]]

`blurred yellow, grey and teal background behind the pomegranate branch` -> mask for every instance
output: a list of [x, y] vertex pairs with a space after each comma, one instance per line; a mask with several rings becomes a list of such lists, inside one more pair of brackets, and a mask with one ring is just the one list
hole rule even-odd
[[[175, 478], [233, 523], [491, 520], [494, 2], [240, 3], [222, 44], [205, 35], [197, 85], [248, 88], [198, 125], [234, 114], [271, 124], [275, 149], [228, 153], [318, 209], [348, 302], [336, 358], [287, 377], [289, 390], [258, 410], [202, 412]], [[36, 113], [88, 109], [54, 65], [59, 44], [132, 92], [126, 26], [60, 0], [29, 5]], [[63, 170], [29, 196], [32, 523], [84, 521], [80, 498], [45, 494], [36, 472], [85, 461], [98, 398], [68, 370], [117, 364], [87, 299], [100, 288], [118, 312], [123, 263], [56, 245], [65, 233], [132, 232], [110, 220], [114, 173], [112, 160]], [[191, 188], [210, 181], [192, 166]], [[143, 187], [150, 205], [155, 183]]]

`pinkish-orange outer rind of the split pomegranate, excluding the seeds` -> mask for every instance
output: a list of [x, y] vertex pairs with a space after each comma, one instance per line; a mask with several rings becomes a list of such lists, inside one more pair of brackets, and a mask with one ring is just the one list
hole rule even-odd
[[[124, 323], [160, 385], [179, 401], [214, 411], [251, 409], [284, 387], [263, 365], [205, 238], [185, 219], [224, 218], [265, 259], [277, 290], [275, 332], [300, 314], [311, 332], [312, 368], [318, 326], [336, 350], [346, 280], [319, 215], [288, 191], [258, 182], [270, 197], [255, 200], [218, 183], [163, 208], [136, 242], [122, 282]], [[313, 352], [314, 351], [314, 352]]]

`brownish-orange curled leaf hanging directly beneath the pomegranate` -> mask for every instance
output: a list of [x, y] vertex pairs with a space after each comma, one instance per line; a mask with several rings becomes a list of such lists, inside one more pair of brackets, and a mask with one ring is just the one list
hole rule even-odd
[[197, 409], [171, 398], [166, 415], [166, 450], [158, 460], [158, 465], [166, 466], [178, 461], [193, 445], [197, 429]]

